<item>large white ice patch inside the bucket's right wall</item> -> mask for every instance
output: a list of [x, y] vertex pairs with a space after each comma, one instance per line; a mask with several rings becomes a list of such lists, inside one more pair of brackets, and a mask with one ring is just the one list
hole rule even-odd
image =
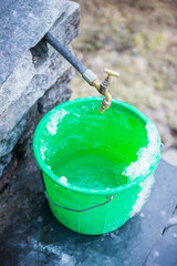
[[127, 176], [129, 181], [136, 177], [147, 175], [149, 173], [150, 165], [156, 160], [155, 154], [158, 154], [159, 141], [158, 134], [152, 122], [146, 124], [148, 144], [145, 147], [140, 147], [137, 152], [137, 161], [132, 162], [125, 171], [122, 173]]

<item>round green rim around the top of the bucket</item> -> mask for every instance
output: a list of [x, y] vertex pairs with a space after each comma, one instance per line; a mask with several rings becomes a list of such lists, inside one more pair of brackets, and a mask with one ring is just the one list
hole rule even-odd
[[144, 121], [146, 124], [148, 122], [150, 122], [150, 124], [153, 125], [153, 130], [156, 132], [157, 134], [157, 143], [159, 143], [159, 150], [157, 151], [157, 154], [156, 154], [156, 161], [153, 165], [150, 165], [149, 167], [149, 173], [147, 175], [140, 175], [138, 177], [136, 177], [135, 180], [133, 181], [129, 181], [127, 184], [124, 184], [124, 185], [119, 185], [117, 187], [113, 187], [113, 188], [110, 188], [110, 190], [91, 190], [91, 188], [83, 188], [83, 187], [77, 187], [77, 186], [69, 186], [69, 185], [65, 185], [65, 184], [62, 184], [59, 182], [59, 176], [55, 175], [52, 170], [50, 170], [46, 164], [44, 163], [44, 161], [42, 160], [41, 157], [41, 153], [40, 153], [40, 149], [38, 146], [38, 142], [40, 140], [40, 131], [41, 129], [43, 127], [43, 125], [45, 124], [45, 122], [48, 121], [48, 119], [51, 116], [51, 114], [55, 113], [55, 111], [59, 111], [67, 105], [71, 105], [71, 104], [75, 104], [77, 102], [90, 102], [90, 101], [96, 101], [96, 102], [100, 102], [102, 101], [104, 98], [103, 96], [88, 96], [88, 98], [77, 98], [77, 99], [73, 99], [73, 100], [70, 100], [70, 101], [66, 101], [66, 102], [63, 102], [59, 105], [56, 105], [55, 108], [51, 109], [42, 119], [41, 121], [39, 122], [39, 124], [37, 125], [35, 127], [35, 131], [34, 131], [34, 135], [33, 135], [33, 154], [34, 154], [34, 157], [38, 162], [38, 165], [39, 167], [41, 168], [41, 171], [52, 181], [54, 182], [55, 184], [62, 186], [63, 188], [66, 188], [69, 191], [73, 191], [73, 192], [77, 192], [77, 193], [83, 193], [83, 194], [98, 194], [98, 195], [114, 195], [114, 194], [117, 194], [118, 192], [122, 192], [124, 190], [128, 190], [131, 187], [133, 187], [134, 185], [137, 185], [139, 183], [142, 183], [144, 180], [146, 180], [149, 175], [154, 174], [157, 165], [158, 165], [158, 161], [160, 158], [160, 137], [159, 137], [159, 134], [158, 134], [158, 131], [155, 126], [155, 124], [149, 120], [147, 119], [147, 116], [145, 114], [143, 114], [139, 110], [137, 110], [136, 108], [134, 108], [133, 105], [126, 103], [126, 102], [123, 102], [123, 101], [119, 101], [119, 100], [115, 100], [115, 99], [112, 99], [112, 103], [114, 104], [117, 104], [119, 106], [123, 106], [125, 108], [126, 110], [133, 112], [134, 114], [136, 114], [139, 119], [142, 119], [142, 121]]

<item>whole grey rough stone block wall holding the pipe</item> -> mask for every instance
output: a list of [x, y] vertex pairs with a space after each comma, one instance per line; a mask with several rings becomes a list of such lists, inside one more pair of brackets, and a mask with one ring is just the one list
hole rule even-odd
[[[6, 16], [8, 9], [10, 13]], [[67, 85], [72, 75], [71, 65], [42, 38], [50, 30], [71, 50], [69, 43], [79, 34], [80, 8], [67, 0], [39, 0], [30, 3], [20, 0], [12, 3], [9, 0], [2, 2], [0, 12], [1, 176], [19, 140], [27, 140], [23, 137], [24, 132], [28, 132], [30, 139], [35, 126], [30, 122], [32, 117], [71, 95]]]

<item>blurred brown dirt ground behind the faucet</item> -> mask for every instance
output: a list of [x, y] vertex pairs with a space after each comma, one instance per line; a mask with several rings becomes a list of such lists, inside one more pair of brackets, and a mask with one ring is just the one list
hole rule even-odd
[[[145, 113], [166, 147], [177, 147], [177, 1], [90, 0], [81, 6], [76, 57], [100, 78], [113, 78], [113, 98]], [[72, 99], [100, 95], [75, 73]]]

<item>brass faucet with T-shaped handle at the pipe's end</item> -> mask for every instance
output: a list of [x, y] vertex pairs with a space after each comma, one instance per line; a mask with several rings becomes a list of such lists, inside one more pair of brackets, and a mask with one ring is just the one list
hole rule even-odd
[[100, 112], [103, 113], [106, 109], [108, 109], [112, 104], [112, 94], [110, 93], [110, 83], [111, 83], [111, 76], [119, 76], [118, 73], [116, 73], [115, 71], [105, 69], [104, 70], [105, 73], [107, 73], [106, 79], [103, 82], [100, 82], [98, 79], [95, 79], [91, 85], [95, 86], [97, 89], [97, 91], [105, 95], [105, 99], [101, 102], [102, 106], [100, 109]]

